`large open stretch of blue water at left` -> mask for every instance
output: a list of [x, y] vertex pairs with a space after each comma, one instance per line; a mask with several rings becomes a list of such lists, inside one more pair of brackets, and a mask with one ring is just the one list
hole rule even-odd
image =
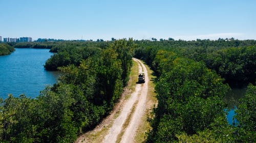
[[46, 71], [43, 66], [51, 55], [49, 49], [16, 49], [0, 56], [0, 98], [8, 94], [34, 98], [46, 85], [55, 83], [59, 72]]

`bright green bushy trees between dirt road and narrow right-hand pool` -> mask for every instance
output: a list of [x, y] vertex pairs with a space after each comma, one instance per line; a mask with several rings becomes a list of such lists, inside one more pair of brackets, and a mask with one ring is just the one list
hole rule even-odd
[[148, 142], [177, 141], [177, 135], [204, 131], [216, 118], [225, 117], [222, 98], [228, 85], [203, 63], [176, 57], [160, 50], [153, 62], [161, 75]]

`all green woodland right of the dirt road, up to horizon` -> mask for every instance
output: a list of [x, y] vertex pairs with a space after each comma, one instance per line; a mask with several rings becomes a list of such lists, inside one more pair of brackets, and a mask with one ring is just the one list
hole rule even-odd
[[136, 42], [135, 56], [145, 60], [158, 75], [155, 88], [158, 105], [153, 111], [154, 118], [150, 119], [152, 130], [147, 133], [146, 142], [255, 141], [255, 85], [249, 84], [246, 97], [241, 100], [236, 111], [239, 123], [235, 126], [226, 121], [222, 100], [230, 89], [225, 82], [255, 83], [256, 50], [250, 46], [254, 41], [237, 41], [238, 46], [243, 46], [234, 48], [230, 42]]

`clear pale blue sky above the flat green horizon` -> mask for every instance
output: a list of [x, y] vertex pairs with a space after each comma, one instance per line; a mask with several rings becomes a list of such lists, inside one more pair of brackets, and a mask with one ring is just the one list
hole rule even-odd
[[256, 0], [0, 0], [0, 36], [255, 39]]

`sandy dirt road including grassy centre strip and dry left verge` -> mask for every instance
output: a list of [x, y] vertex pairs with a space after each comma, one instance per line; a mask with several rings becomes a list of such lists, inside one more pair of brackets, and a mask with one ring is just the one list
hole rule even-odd
[[[108, 127], [108, 131], [102, 136], [99, 142], [134, 142], [136, 130], [146, 109], [146, 98], [148, 90], [148, 78], [147, 69], [145, 65], [137, 59], [133, 59], [138, 63], [139, 71], [145, 73], [145, 83], [136, 84], [135, 91], [131, 94], [131, 97], [127, 100], [121, 100], [120, 106], [114, 109], [113, 113], [107, 117], [101, 125], [96, 127], [92, 132], [98, 132], [104, 127]], [[114, 118], [116, 112], [120, 111], [117, 118]], [[90, 133], [89, 133], [90, 134]], [[99, 137], [99, 136], [98, 136]], [[75, 142], [90, 142], [87, 140], [86, 135], [80, 136]], [[92, 141], [94, 142], [94, 141]]]

